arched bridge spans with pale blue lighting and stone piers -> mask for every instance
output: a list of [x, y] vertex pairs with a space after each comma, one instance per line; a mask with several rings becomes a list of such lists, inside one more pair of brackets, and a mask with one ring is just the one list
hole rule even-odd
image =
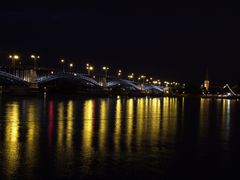
[[[31, 75], [32, 74], [32, 75]], [[27, 79], [27, 80], [25, 80]], [[36, 72], [28, 74], [28, 78], [18, 77], [16, 75], [0, 71], [0, 85], [5, 86], [25, 86], [45, 88], [69, 89], [108, 89], [112, 91], [125, 92], [147, 92], [163, 93], [164, 88], [150, 84], [138, 84], [126, 79], [116, 79], [115, 77], [100, 77], [99, 82], [86, 74], [73, 72], [59, 72], [54, 74], [45, 74], [37, 77]]]

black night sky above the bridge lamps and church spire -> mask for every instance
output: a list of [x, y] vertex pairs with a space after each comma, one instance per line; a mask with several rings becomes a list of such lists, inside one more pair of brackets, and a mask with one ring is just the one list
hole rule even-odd
[[238, 9], [163, 4], [2, 4], [0, 57], [41, 55], [200, 83], [240, 82]]

